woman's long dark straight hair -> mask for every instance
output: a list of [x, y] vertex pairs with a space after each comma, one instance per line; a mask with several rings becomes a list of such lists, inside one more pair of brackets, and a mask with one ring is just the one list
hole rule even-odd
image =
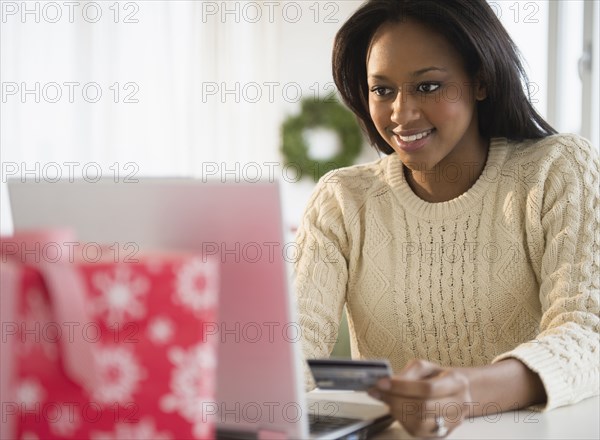
[[342, 99], [378, 150], [394, 151], [369, 114], [367, 53], [382, 24], [406, 19], [442, 34], [462, 55], [467, 74], [486, 87], [486, 99], [477, 103], [484, 138], [523, 140], [556, 133], [531, 105], [518, 49], [485, 0], [369, 0], [337, 33], [332, 67]]

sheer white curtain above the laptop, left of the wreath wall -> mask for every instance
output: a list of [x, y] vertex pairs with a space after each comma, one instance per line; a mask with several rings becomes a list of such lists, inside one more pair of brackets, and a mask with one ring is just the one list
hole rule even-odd
[[281, 102], [265, 86], [279, 81], [280, 25], [255, 22], [265, 10], [74, 3], [2, 4], [3, 232], [9, 177], [198, 176], [207, 164], [280, 161]]

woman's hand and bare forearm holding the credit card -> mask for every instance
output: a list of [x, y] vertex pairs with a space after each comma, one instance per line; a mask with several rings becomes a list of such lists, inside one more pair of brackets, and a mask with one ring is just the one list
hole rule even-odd
[[511, 411], [546, 401], [540, 377], [517, 359], [480, 367], [445, 368], [413, 360], [369, 390], [390, 406], [412, 435], [445, 437], [465, 418]]

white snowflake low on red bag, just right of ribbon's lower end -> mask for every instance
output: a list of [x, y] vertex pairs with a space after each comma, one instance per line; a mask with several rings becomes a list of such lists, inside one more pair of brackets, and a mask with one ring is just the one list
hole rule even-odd
[[98, 376], [96, 388], [89, 390], [99, 403], [126, 403], [132, 400], [139, 383], [146, 378], [146, 371], [125, 347], [97, 347], [94, 363]]

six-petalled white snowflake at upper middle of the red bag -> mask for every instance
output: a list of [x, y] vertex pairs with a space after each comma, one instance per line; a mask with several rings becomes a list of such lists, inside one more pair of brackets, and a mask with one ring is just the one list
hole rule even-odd
[[93, 313], [105, 315], [107, 325], [129, 319], [140, 319], [146, 314], [141, 297], [148, 293], [150, 282], [138, 276], [133, 277], [124, 265], [117, 265], [114, 275], [110, 272], [94, 274], [92, 283], [102, 295], [93, 302]]

